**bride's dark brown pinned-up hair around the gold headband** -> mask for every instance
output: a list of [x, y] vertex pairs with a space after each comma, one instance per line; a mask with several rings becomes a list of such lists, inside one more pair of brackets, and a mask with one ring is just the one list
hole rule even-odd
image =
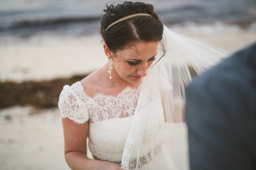
[[[163, 36], [163, 24], [154, 12], [154, 6], [143, 2], [123, 2], [117, 5], [106, 5], [106, 12], [100, 20], [100, 34], [112, 52], [122, 50], [135, 42], [160, 42]], [[137, 13], [147, 13], [151, 16], [138, 16], [122, 21], [106, 31], [112, 22]], [[161, 43], [163, 54], [165, 48]]]

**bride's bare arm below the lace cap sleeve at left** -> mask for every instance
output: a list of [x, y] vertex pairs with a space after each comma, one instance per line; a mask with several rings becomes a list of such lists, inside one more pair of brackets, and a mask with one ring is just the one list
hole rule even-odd
[[89, 123], [76, 124], [72, 120], [62, 119], [65, 159], [72, 170], [122, 170], [120, 165], [107, 161], [97, 161], [87, 157], [86, 139]]

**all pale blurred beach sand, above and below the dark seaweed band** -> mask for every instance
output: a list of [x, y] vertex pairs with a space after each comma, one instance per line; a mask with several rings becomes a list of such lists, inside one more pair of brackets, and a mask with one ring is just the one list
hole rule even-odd
[[[173, 31], [235, 52], [256, 42], [256, 26], [173, 26]], [[63, 38], [38, 35], [0, 44], [0, 81], [40, 81], [87, 74], [107, 61], [99, 35]], [[186, 130], [184, 130], [186, 131]], [[69, 170], [63, 154], [58, 108], [0, 109], [0, 170]], [[91, 157], [91, 155], [89, 155]]]

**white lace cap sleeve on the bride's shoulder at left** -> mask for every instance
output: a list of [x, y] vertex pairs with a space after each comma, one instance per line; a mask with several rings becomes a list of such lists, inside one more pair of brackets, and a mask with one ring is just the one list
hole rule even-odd
[[[77, 83], [73, 85], [76, 86]], [[58, 107], [62, 118], [69, 118], [75, 123], [83, 124], [89, 119], [88, 109], [85, 101], [82, 101], [77, 94], [79, 89], [72, 88], [72, 86], [65, 85], [63, 87], [59, 95]]]

